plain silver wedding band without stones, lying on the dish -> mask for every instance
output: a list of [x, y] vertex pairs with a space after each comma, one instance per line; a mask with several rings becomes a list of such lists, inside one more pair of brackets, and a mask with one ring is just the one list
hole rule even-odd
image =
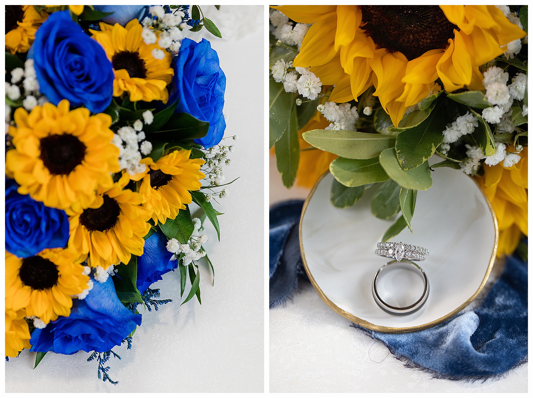
[[[405, 269], [408, 271], [414, 271], [424, 282], [424, 293], [422, 293], [422, 296], [418, 300], [416, 300], [413, 304], [410, 304], [408, 306], [398, 307], [398, 306], [393, 306], [391, 304], [388, 304], [377, 293], [378, 278], [381, 278], [384, 275], [386, 275], [386, 273], [393, 271], [393, 270], [397, 270], [397, 269]], [[377, 305], [379, 305], [379, 308], [381, 308], [383, 311], [388, 312], [392, 315], [409, 315], [409, 314], [412, 314], [413, 312], [418, 311], [425, 304], [427, 300], [427, 296], [429, 296], [429, 292], [430, 292], [430, 283], [429, 283], [429, 280], [427, 279], [427, 276], [424, 270], [420, 268], [414, 262], [405, 260], [405, 259], [399, 262], [394, 261], [394, 260], [387, 262], [383, 267], [379, 268], [379, 270], [376, 272], [376, 275], [374, 276], [374, 281], [372, 283], [372, 295], [374, 296], [374, 300], [376, 301]]]

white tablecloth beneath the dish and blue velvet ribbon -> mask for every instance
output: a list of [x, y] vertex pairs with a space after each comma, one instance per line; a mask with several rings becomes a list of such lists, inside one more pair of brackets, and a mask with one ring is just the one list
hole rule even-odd
[[[286, 189], [270, 156], [270, 204], [305, 198], [309, 189]], [[403, 366], [330, 309], [310, 283], [293, 300], [270, 310], [270, 392], [527, 392], [528, 365], [499, 380], [435, 379]]]

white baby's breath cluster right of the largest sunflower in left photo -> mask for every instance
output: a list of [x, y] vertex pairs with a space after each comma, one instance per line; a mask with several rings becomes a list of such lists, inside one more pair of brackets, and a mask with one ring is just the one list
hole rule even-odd
[[[154, 115], [150, 111], [143, 113], [143, 119], [153, 121]], [[147, 123], [149, 124], [149, 123]], [[111, 143], [119, 149], [118, 164], [120, 169], [126, 170], [133, 176], [146, 170], [146, 164], [140, 163], [142, 155], [148, 155], [152, 152], [152, 143], [146, 140], [144, 134], [143, 122], [136, 120], [133, 127], [124, 126], [117, 130]]]

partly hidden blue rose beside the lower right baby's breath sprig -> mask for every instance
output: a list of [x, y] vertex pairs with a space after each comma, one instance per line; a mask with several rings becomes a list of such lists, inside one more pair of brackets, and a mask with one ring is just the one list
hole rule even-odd
[[167, 242], [159, 229], [144, 242], [144, 253], [137, 258], [137, 288], [141, 294], [163, 279], [161, 275], [177, 268], [178, 262], [171, 260], [173, 253], [166, 250]]

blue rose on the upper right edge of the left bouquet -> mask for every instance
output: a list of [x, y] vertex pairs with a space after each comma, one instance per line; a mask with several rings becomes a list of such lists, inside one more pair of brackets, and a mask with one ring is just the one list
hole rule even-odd
[[176, 113], [189, 113], [209, 122], [207, 135], [195, 139], [197, 143], [205, 148], [218, 144], [226, 128], [222, 114], [226, 77], [220, 69], [219, 56], [206, 39], [196, 43], [184, 38], [173, 68], [168, 104], [179, 99]]

